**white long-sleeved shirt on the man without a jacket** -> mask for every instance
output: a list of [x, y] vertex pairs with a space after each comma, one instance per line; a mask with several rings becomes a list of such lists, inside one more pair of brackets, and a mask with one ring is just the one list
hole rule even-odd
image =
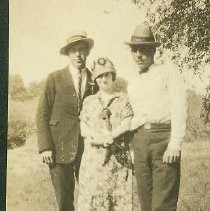
[[170, 123], [168, 148], [181, 149], [186, 130], [186, 91], [174, 65], [153, 64], [130, 81], [128, 95], [134, 111], [131, 129], [145, 123]]

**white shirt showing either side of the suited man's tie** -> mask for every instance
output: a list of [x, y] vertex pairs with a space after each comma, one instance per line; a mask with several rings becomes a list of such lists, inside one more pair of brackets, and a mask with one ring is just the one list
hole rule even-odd
[[[74, 87], [76, 89], [76, 92], [78, 91], [78, 83], [79, 83], [79, 78], [78, 74], [79, 71], [77, 68], [75, 68], [72, 64], [69, 64], [69, 71], [70, 74], [72, 75], [73, 82], [74, 82]], [[87, 83], [87, 70], [86, 68], [83, 68], [81, 70], [81, 77], [82, 77], [82, 83], [81, 83], [81, 97], [84, 96], [85, 94], [85, 88], [86, 88], [86, 83]]]

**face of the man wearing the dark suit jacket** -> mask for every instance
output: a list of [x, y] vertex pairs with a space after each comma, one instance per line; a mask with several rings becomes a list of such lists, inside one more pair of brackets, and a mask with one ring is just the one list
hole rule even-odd
[[89, 55], [89, 49], [86, 43], [77, 42], [70, 46], [69, 48], [69, 59], [71, 64], [77, 68], [81, 69], [86, 66], [86, 58]]

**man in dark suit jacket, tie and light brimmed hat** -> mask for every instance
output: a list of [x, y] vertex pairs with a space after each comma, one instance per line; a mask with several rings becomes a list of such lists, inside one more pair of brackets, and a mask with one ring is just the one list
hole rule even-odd
[[79, 113], [83, 99], [92, 92], [86, 58], [93, 45], [84, 31], [69, 37], [60, 50], [69, 57], [69, 66], [48, 75], [38, 105], [38, 148], [49, 165], [59, 211], [75, 210], [75, 176], [83, 152]]

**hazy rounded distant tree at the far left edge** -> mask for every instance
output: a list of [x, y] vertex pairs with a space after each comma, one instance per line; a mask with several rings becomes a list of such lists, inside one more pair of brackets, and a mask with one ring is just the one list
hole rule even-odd
[[24, 101], [26, 99], [26, 88], [21, 75], [9, 76], [9, 97], [13, 100]]

